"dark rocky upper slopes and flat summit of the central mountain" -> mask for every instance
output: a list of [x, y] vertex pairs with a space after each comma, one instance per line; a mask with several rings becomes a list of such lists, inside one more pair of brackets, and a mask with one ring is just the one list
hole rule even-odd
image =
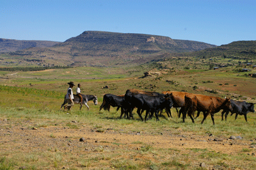
[[191, 52], [216, 47], [209, 43], [174, 40], [167, 36], [132, 33], [84, 31], [56, 46], [71, 46], [70, 50], [102, 50], [102, 54], [122, 51], [123, 54], [152, 54], [157, 52]]

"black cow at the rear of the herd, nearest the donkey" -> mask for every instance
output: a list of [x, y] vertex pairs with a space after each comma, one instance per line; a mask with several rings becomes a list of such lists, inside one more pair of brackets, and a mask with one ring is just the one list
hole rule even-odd
[[104, 95], [103, 102], [100, 105], [100, 111], [102, 108], [104, 109], [104, 111], [109, 111], [110, 106], [117, 107], [116, 111], [118, 111], [118, 109], [121, 107], [120, 118], [122, 118], [122, 115], [124, 114], [124, 95]]

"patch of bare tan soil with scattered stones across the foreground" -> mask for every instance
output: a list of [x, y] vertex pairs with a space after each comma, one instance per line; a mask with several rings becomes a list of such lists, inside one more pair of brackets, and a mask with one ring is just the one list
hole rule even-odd
[[[197, 135], [192, 132], [180, 132], [179, 134], [170, 132], [170, 130], [163, 130], [161, 133], [134, 132], [124, 130], [122, 127], [115, 129], [93, 128], [92, 125], [77, 123], [76, 121], [60, 122], [55, 125], [35, 128], [33, 126], [36, 123], [34, 120], [21, 120], [20, 123], [17, 123], [12, 119], [1, 118], [0, 148], [3, 156], [13, 158], [13, 155], [18, 153], [24, 155], [60, 153], [61, 160], [58, 165], [51, 164], [53, 161], [51, 158], [39, 155], [44, 157], [42, 158], [44, 161], [50, 162], [46, 166], [47, 169], [71, 169], [74, 167], [76, 169], [82, 167], [116, 169], [118, 163], [113, 163], [115, 160], [119, 162], [120, 160], [127, 160], [136, 162], [136, 164], [145, 164], [148, 161], [160, 164], [161, 162], [170, 162], [173, 157], [179, 159], [179, 155], [187, 155], [188, 160], [180, 161], [189, 164], [189, 167], [193, 169], [201, 168], [200, 163], [202, 162], [205, 163], [205, 167], [203, 167], [205, 169], [218, 169], [207, 164], [208, 162], [205, 160], [197, 160], [196, 158], [200, 153], [193, 151], [193, 149], [236, 156], [244, 148], [252, 147], [252, 140], [227, 139], [214, 135]], [[70, 128], [67, 124], [78, 128]], [[81, 139], [82, 137], [83, 139]], [[147, 147], [154, 151], [147, 151]], [[158, 150], [168, 150], [168, 154], [159, 155]], [[253, 152], [255, 149], [248, 154], [255, 157]], [[97, 161], [93, 161], [95, 159]], [[90, 160], [90, 164], [86, 163], [85, 160], [87, 162]], [[31, 162], [31, 164], [33, 163]], [[239, 166], [241, 162], [227, 161], [225, 164], [232, 167], [234, 164]]]

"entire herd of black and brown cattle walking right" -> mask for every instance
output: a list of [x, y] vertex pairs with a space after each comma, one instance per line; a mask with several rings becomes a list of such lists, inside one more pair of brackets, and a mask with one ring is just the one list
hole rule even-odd
[[219, 112], [221, 109], [223, 110], [221, 112], [222, 120], [224, 114], [225, 120], [227, 120], [227, 115], [231, 112], [232, 114], [236, 113], [236, 118], [238, 114], [244, 115], [247, 121], [247, 113], [254, 112], [253, 103], [239, 102], [230, 98], [209, 97], [182, 91], [163, 91], [162, 93], [157, 93], [138, 89], [127, 89], [125, 95], [104, 95], [100, 110], [103, 108], [109, 111], [110, 106], [117, 107], [116, 111], [121, 109], [120, 118], [124, 115], [124, 117], [129, 119], [133, 119], [132, 111], [134, 108], [137, 108], [137, 113], [142, 121], [141, 114], [143, 111], [146, 111], [144, 120], [147, 121], [154, 115], [156, 116], [156, 120], [159, 120], [158, 114], [163, 109], [166, 111], [168, 117], [172, 117], [170, 109], [172, 107], [176, 109], [180, 108], [179, 112], [178, 110], [177, 112], [179, 113], [179, 117], [182, 114], [183, 122], [188, 114], [193, 123], [195, 123], [195, 111], [197, 111], [196, 118], [200, 112], [203, 112], [204, 119], [201, 123], [204, 123], [205, 118], [210, 114], [213, 125], [214, 113]]

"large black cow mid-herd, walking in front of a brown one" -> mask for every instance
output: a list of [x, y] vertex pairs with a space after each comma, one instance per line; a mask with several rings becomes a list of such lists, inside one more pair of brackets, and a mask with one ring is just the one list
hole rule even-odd
[[[159, 95], [158, 95], [159, 94]], [[129, 116], [133, 118], [132, 116], [132, 110], [134, 107], [137, 107], [137, 113], [140, 116], [141, 120], [143, 121], [143, 118], [141, 116], [141, 110], [145, 110], [146, 116], [145, 121], [147, 120], [148, 112], [151, 112], [151, 116], [155, 113], [156, 120], [159, 120], [157, 114], [159, 111], [166, 109], [168, 112], [170, 112], [170, 109], [172, 108], [172, 99], [169, 95], [163, 95], [161, 93], [158, 93], [158, 96], [150, 96], [145, 94], [138, 94], [138, 93], [132, 93], [129, 89], [125, 93], [125, 104], [128, 111]]]

